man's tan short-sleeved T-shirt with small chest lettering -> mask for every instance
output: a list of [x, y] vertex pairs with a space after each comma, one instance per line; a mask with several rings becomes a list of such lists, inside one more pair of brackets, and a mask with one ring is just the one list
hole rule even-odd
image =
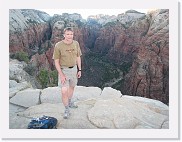
[[77, 41], [73, 40], [71, 44], [60, 41], [55, 45], [53, 59], [59, 59], [61, 67], [72, 67], [76, 65], [76, 59], [81, 55], [80, 45]]

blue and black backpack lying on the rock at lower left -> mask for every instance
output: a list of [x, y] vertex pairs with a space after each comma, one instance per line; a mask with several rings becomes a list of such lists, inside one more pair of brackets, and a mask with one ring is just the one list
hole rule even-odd
[[57, 119], [50, 116], [42, 116], [31, 119], [28, 129], [56, 129]]

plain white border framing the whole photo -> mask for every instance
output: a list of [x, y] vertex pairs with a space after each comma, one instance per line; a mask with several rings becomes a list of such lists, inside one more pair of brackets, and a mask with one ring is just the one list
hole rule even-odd
[[[21, 1], [8, 0], [0, 9], [3, 30], [1, 64], [3, 65], [3, 99], [1, 118], [3, 139], [179, 139], [179, 61], [178, 61], [178, 1], [166, 0], [112, 0], [91, 2], [83, 0], [66, 1]], [[142, 3], [142, 5], [141, 5]], [[169, 9], [169, 129], [9, 129], [9, 9]], [[176, 16], [174, 16], [176, 15]], [[6, 54], [5, 54], [6, 53]], [[8, 96], [8, 97], [7, 97]], [[71, 133], [71, 135], [70, 135]], [[131, 135], [132, 134], [132, 135]]]

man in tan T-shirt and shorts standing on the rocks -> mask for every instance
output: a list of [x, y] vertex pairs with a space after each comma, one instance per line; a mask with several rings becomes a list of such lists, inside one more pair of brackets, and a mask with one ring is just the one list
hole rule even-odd
[[81, 77], [81, 50], [79, 43], [73, 40], [73, 29], [64, 29], [64, 40], [56, 43], [53, 53], [58, 71], [58, 86], [61, 87], [62, 102], [65, 106], [64, 119], [69, 117], [69, 108], [77, 108], [71, 98], [78, 78]]

